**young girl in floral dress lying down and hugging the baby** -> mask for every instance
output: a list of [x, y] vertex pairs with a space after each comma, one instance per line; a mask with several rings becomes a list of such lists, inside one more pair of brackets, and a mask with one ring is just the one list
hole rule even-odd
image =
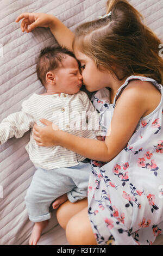
[[88, 206], [86, 199], [67, 201], [57, 213], [71, 245], [151, 245], [163, 228], [161, 42], [126, 0], [109, 0], [106, 13], [76, 35], [51, 15], [17, 18], [24, 17], [22, 31], [49, 27], [73, 49], [86, 89], [97, 91], [92, 101], [106, 136], [95, 141], [54, 131], [42, 119], [46, 127], [35, 125], [34, 138], [92, 159]]

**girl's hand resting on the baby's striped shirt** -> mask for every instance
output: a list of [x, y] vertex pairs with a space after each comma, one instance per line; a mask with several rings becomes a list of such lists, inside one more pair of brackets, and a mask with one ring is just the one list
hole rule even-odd
[[52, 147], [59, 145], [59, 128], [54, 125], [51, 121], [46, 119], [40, 119], [45, 127], [40, 127], [37, 124], [33, 127], [33, 137], [37, 145], [41, 147]]

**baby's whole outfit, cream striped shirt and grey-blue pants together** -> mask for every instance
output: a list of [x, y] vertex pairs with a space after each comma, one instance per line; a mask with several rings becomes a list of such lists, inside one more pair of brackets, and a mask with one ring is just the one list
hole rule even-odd
[[[44, 126], [45, 118], [76, 136], [96, 139], [101, 135], [99, 115], [86, 93], [52, 95], [33, 94], [22, 103], [20, 112], [10, 114], [0, 124], [0, 142], [20, 138], [33, 128], [34, 123]], [[26, 146], [30, 160], [36, 167], [32, 183], [26, 194], [29, 219], [33, 222], [51, 217], [49, 206], [54, 199], [67, 193], [70, 202], [87, 196], [91, 164], [85, 157], [61, 146], [40, 147], [30, 133]]]

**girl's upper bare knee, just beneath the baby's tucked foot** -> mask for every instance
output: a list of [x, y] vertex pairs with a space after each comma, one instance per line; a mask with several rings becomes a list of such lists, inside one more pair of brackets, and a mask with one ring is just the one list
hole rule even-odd
[[76, 203], [71, 203], [67, 200], [65, 203], [61, 204], [57, 209], [57, 220], [60, 226], [66, 229], [68, 221], [76, 215], [79, 211], [87, 207], [87, 198], [78, 200]]

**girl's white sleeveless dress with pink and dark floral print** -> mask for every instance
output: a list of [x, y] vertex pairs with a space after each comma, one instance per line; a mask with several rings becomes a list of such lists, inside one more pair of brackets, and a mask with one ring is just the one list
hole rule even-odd
[[[155, 110], [141, 118], [128, 145], [108, 163], [91, 161], [89, 218], [98, 245], [152, 245], [163, 230], [163, 90], [155, 80], [130, 76], [114, 103], [103, 88], [92, 96], [106, 135], [117, 96], [131, 80], [152, 82], [161, 93]], [[109, 118], [107, 119], [106, 117]]]

